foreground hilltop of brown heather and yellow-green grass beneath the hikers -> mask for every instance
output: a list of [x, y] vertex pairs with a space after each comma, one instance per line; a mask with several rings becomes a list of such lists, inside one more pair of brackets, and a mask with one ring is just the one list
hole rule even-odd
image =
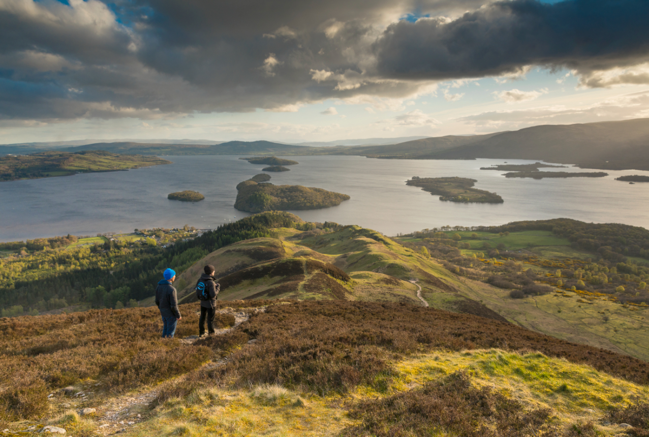
[[649, 363], [511, 323], [405, 303], [219, 301], [223, 329], [197, 339], [197, 309], [181, 306], [173, 340], [157, 338], [156, 308], [0, 320], [1, 427], [80, 437], [649, 431]]

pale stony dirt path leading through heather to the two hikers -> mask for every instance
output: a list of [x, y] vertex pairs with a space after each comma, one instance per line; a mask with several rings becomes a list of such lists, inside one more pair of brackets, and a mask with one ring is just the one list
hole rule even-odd
[[[251, 314], [256, 312], [264, 312], [265, 308], [247, 308], [247, 310], [239, 310], [239, 312], [234, 312], [233, 310], [221, 310], [220, 313], [227, 313], [234, 315], [234, 325], [227, 329], [217, 329], [215, 335], [223, 335], [227, 332], [236, 329], [241, 323], [247, 321]], [[218, 313], [217, 312], [217, 313]], [[183, 346], [189, 346], [196, 342], [199, 339], [199, 336], [192, 335], [180, 339], [180, 343]], [[210, 361], [203, 364], [203, 368], [217, 368], [223, 366], [228, 362], [228, 358], [222, 358], [217, 361]], [[186, 375], [180, 375], [176, 380], [182, 380]], [[173, 380], [171, 379], [171, 380]], [[171, 381], [167, 380], [167, 381]], [[95, 388], [95, 387], [92, 387]], [[90, 389], [90, 388], [89, 388]], [[93, 390], [83, 390], [84, 393], [88, 393], [88, 398], [84, 397], [83, 399], [88, 399], [90, 401], [93, 397]], [[127, 395], [113, 397], [111, 399], [106, 399], [101, 405], [92, 405], [91, 402], [84, 402], [84, 405], [70, 405], [73, 409], [78, 409], [79, 407], [91, 407], [95, 408], [97, 411], [93, 414], [95, 421], [97, 422], [97, 431], [96, 434], [107, 436], [112, 434], [117, 434], [120, 432], [125, 432], [129, 430], [131, 425], [137, 425], [143, 416], [149, 412], [149, 405], [153, 402], [158, 393], [160, 392], [160, 384], [156, 384], [153, 387], [143, 387], [138, 389], [135, 392], [131, 392]], [[82, 400], [82, 399], [79, 399]], [[73, 402], [71, 400], [71, 402]]]

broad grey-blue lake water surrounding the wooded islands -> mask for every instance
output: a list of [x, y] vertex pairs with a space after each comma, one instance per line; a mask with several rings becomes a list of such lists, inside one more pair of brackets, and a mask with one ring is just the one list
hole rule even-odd
[[[214, 229], [248, 216], [234, 209], [236, 184], [265, 166], [239, 156], [164, 156], [174, 164], [110, 173], [0, 182], [0, 241], [65, 234], [95, 235], [152, 227]], [[615, 181], [649, 171], [610, 171], [604, 178], [506, 179], [505, 171], [480, 170], [504, 160], [384, 160], [361, 156], [287, 156], [300, 164], [269, 173], [274, 184], [299, 184], [349, 194], [339, 206], [291, 211], [307, 221], [360, 225], [386, 235], [443, 225], [501, 225], [510, 221], [572, 218], [649, 228], [649, 183]], [[528, 164], [530, 160], [507, 160]], [[578, 168], [545, 171], [596, 171]], [[413, 176], [470, 177], [475, 188], [496, 192], [502, 204], [439, 201], [406, 186]], [[195, 190], [199, 203], [167, 194]]]

